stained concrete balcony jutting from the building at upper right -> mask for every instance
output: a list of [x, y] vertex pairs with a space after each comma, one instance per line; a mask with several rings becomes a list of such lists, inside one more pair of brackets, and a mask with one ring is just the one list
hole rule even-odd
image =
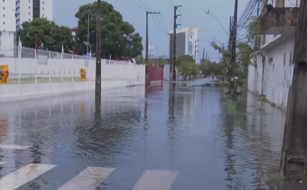
[[294, 33], [299, 15], [299, 7], [273, 8], [260, 19], [260, 33], [279, 35]]

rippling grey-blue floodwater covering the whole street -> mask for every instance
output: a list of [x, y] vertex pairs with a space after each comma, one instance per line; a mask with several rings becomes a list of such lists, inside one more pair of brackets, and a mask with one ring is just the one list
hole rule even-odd
[[304, 189], [277, 175], [284, 112], [224, 93], [201, 80], [2, 103], [0, 190]]

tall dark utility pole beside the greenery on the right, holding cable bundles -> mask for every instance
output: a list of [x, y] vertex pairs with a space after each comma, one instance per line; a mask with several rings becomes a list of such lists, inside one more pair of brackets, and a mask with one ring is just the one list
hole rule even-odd
[[235, 90], [235, 64], [236, 64], [236, 22], [237, 22], [238, 0], [235, 0], [235, 15], [232, 25], [232, 47], [231, 47], [231, 75], [230, 75], [230, 94], [234, 95]]

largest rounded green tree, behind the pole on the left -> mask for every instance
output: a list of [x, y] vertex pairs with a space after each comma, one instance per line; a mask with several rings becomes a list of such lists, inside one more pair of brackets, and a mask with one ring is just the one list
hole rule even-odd
[[[76, 13], [78, 29], [76, 31], [76, 52], [84, 53], [87, 47], [87, 24], [89, 22], [89, 43], [92, 52], [96, 52], [97, 2], [83, 5]], [[134, 33], [134, 27], [123, 21], [122, 15], [114, 7], [101, 2], [101, 55], [102, 57], [136, 57], [143, 50], [142, 37]]]

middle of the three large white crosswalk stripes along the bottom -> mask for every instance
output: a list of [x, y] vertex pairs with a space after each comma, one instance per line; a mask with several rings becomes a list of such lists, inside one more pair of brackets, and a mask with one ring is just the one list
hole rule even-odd
[[116, 168], [88, 167], [57, 190], [94, 190]]

